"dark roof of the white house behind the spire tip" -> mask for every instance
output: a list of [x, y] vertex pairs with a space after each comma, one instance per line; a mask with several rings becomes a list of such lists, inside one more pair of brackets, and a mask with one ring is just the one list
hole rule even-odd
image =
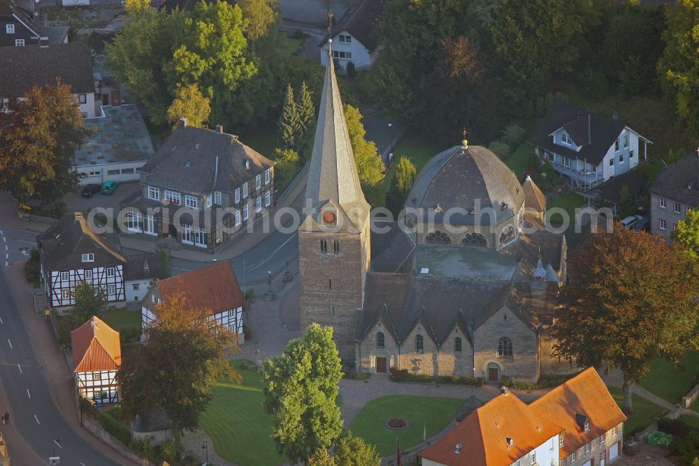
[[319, 46], [325, 45], [329, 38], [335, 38], [340, 32], [348, 31], [352, 37], [373, 52], [379, 43], [381, 17], [384, 0], [363, 0], [350, 8], [335, 23], [330, 34], [326, 34]]

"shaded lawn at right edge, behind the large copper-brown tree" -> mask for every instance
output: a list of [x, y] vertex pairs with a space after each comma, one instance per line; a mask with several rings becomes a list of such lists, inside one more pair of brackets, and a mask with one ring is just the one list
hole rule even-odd
[[670, 403], [678, 403], [689, 393], [699, 377], [699, 351], [689, 351], [682, 358], [682, 370], [664, 359], [651, 361], [651, 370], [640, 384]]

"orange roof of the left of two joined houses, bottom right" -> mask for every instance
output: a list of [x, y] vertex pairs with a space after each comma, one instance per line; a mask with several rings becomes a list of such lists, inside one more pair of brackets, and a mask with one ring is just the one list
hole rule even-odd
[[562, 430], [508, 393], [474, 411], [419, 456], [449, 466], [507, 466]]

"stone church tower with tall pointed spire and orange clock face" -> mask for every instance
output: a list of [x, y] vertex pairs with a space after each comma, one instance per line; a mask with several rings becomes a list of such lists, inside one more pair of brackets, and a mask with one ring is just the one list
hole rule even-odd
[[331, 325], [340, 358], [354, 363], [355, 316], [370, 261], [370, 206], [359, 184], [330, 54], [298, 229], [301, 330], [313, 322]]

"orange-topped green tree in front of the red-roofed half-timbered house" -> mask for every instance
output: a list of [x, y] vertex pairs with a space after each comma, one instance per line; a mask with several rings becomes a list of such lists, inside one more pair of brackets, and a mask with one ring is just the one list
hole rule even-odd
[[180, 434], [196, 428], [219, 377], [240, 381], [226, 360], [238, 348], [238, 338], [209, 320], [208, 309], [187, 305], [182, 295], [165, 299], [154, 313], [157, 319], [145, 330], [147, 344], [131, 348], [117, 374], [122, 412], [133, 419], [161, 407]]

